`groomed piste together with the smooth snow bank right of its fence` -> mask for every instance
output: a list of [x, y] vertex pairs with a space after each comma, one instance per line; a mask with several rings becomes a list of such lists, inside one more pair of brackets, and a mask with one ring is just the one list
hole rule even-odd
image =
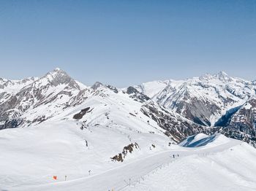
[[208, 140], [202, 147], [172, 145], [91, 176], [12, 190], [255, 190], [255, 149], [222, 135]]

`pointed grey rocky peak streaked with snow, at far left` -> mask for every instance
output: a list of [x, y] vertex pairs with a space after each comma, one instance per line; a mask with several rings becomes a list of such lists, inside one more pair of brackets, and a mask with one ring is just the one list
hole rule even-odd
[[0, 102], [0, 129], [28, 126], [56, 116], [82, 89], [86, 86], [61, 69], [23, 84], [21, 89]]

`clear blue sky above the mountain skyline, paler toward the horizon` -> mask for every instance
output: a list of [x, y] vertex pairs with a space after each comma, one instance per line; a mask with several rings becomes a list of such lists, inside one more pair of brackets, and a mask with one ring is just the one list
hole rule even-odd
[[0, 77], [56, 67], [125, 87], [204, 73], [256, 79], [256, 1], [0, 1]]

